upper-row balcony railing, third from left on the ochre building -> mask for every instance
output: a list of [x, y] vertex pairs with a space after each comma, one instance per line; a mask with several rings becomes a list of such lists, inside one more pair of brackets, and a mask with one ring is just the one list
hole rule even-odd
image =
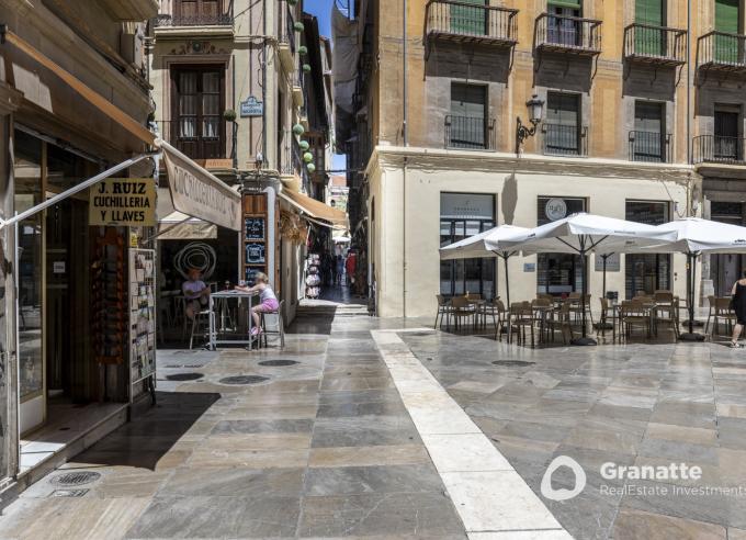
[[624, 58], [669, 66], [687, 61], [687, 31], [630, 24], [624, 29]]

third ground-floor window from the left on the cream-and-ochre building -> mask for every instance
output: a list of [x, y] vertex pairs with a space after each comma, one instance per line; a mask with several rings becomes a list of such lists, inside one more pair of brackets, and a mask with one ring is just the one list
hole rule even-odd
[[[669, 203], [626, 201], [625, 218], [646, 225], [669, 222]], [[628, 254], [624, 265], [625, 297], [670, 290], [671, 256], [668, 254]]]

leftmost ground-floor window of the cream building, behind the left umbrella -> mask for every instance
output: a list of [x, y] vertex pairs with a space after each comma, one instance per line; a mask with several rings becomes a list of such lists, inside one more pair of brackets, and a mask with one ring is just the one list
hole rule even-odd
[[[495, 195], [441, 193], [440, 246], [463, 240], [495, 226]], [[478, 293], [495, 297], [495, 259], [441, 261], [440, 292], [445, 296]]]

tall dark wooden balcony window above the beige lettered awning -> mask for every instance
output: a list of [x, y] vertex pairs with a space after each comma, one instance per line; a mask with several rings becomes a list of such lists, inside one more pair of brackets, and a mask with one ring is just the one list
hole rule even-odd
[[174, 68], [171, 89], [171, 144], [193, 159], [226, 158], [224, 68]]

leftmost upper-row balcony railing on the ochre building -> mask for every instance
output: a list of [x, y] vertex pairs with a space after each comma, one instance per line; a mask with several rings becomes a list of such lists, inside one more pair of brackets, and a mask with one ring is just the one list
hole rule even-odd
[[450, 0], [430, 0], [428, 36], [455, 42], [511, 46], [518, 41], [518, 10]]

